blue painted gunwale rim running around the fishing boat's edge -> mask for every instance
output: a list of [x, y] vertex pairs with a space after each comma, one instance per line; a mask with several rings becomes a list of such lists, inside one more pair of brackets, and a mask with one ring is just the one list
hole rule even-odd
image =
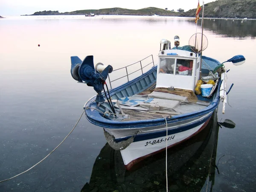
[[[213, 58], [209, 58], [206, 56], [203, 56], [202, 58], [213, 61], [216, 64], [220, 64], [219, 61], [217, 61]], [[150, 75], [151, 73], [154, 73], [154, 71], [156, 69], [157, 69], [157, 65], [152, 67], [150, 70], [148, 70], [143, 75], [137, 77], [136, 79], [133, 79], [132, 81], [128, 81], [127, 83], [122, 84], [119, 87], [116, 87], [116, 88], [110, 90], [110, 95], [113, 96], [114, 94], [120, 92], [120, 90], [124, 90], [125, 88], [130, 87], [131, 85], [139, 82], [141, 79], [144, 79], [146, 76]], [[148, 87], [151, 86], [152, 84], [154, 84], [154, 82], [151, 82], [150, 84], [148, 84]], [[220, 96], [219, 96], [220, 85], [221, 84], [219, 83], [218, 89], [216, 90], [216, 92], [213, 96], [213, 100], [209, 106], [207, 106], [206, 108], [199, 110], [199, 111], [172, 116], [172, 118], [167, 119], [167, 123], [169, 124], [169, 123], [173, 123], [173, 122], [183, 121], [186, 119], [191, 119], [191, 118], [194, 118], [197, 116], [204, 115], [211, 111], [214, 111], [216, 108], [218, 108], [218, 104], [220, 102]], [[145, 87], [145, 88], [147, 88], [147, 87]], [[87, 102], [85, 107], [97, 108], [97, 104], [94, 101], [95, 98], [96, 98], [96, 96], [91, 98]], [[99, 113], [96, 110], [94, 110], [94, 111], [86, 110], [86, 118], [88, 119], [89, 122], [91, 122], [94, 125], [98, 125], [98, 126], [104, 127], [104, 128], [111, 128], [111, 129], [143, 128], [143, 127], [152, 127], [152, 126], [159, 126], [159, 125], [166, 124], [165, 118], [119, 122], [119, 121], [115, 121], [115, 120], [111, 120], [111, 119], [106, 119], [105, 117], [102, 116], [101, 113]]]

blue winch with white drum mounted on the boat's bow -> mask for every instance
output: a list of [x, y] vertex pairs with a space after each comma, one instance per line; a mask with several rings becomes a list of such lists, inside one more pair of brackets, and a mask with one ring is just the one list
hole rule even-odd
[[[84, 61], [78, 56], [71, 57], [71, 75], [73, 79], [80, 83], [86, 83], [88, 86], [93, 87], [93, 89], [98, 93], [96, 96], [96, 102], [104, 102], [104, 96], [102, 94], [102, 90], [104, 89], [104, 83], [108, 77], [108, 73], [113, 71], [113, 67], [111, 65], [104, 67], [99, 63], [96, 65], [96, 69], [93, 64], [93, 55], [86, 56]], [[97, 70], [100, 68], [101, 70]]]

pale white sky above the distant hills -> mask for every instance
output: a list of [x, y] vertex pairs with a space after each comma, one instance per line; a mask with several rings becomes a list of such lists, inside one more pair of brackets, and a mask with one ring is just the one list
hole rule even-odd
[[[204, 0], [204, 4], [215, 0]], [[200, 5], [203, 1], [200, 0]], [[120, 7], [142, 9], [157, 7], [168, 10], [195, 9], [198, 0], [0, 0], [0, 15], [31, 15], [38, 11], [71, 12], [83, 9], [104, 9]]]

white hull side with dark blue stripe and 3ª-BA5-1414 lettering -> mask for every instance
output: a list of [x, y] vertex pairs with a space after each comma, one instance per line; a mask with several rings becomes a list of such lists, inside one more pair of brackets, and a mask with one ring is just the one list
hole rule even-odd
[[131, 135], [138, 131], [134, 142], [127, 148], [121, 150], [126, 169], [131, 169], [134, 164], [146, 157], [164, 151], [166, 149], [166, 142], [167, 148], [170, 148], [198, 134], [207, 125], [212, 112], [192, 118], [190, 121], [183, 123], [178, 121], [167, 124], [167, 136], [166, 124], [157, 127], [128, 128], [122, 130], [105, 128], [105, 131], [115, 136], [116, 141], [119, 142], [127, 140], [128, 137], [123, 137], [124, 135], [131, 137]]

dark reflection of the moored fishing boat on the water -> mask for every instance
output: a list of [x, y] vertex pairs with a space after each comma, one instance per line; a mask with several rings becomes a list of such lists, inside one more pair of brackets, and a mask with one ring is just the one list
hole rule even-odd
[[[200, 191], [206, 182], [209, 182], [208, 189], [213, 186], [218, 130], [215, 111], [203, 131], [168, 150], [168, 189], [195, 192]], [[165, 152], [151, 156], [127, 171], [120, 152], [106, 144], [95, 160], [90, 182], [81, 192], [164, 190]]]

